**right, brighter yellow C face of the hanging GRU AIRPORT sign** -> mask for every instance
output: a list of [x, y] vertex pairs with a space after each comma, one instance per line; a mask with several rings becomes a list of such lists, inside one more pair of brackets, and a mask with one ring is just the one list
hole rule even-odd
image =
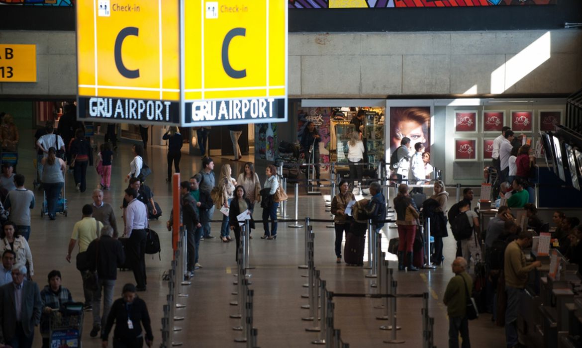
[[184, 2], [184, 126], [287, 120], [287, 3]]

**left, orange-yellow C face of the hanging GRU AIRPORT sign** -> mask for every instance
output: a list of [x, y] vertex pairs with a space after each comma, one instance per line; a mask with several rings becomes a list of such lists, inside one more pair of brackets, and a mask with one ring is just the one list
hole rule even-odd
[[178, 1], [77, 1], [79, 117], [179, 123]]

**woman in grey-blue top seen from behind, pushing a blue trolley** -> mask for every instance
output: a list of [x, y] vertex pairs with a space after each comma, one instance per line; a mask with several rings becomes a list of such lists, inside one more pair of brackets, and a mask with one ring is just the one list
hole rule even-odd
[[65, 172], [67, 166], [65, 161], [56, 157], [56, 149], [48, 149], [48, 157], [42, 159], [42, 187], [47, 196], [48, 217], [56, 219], [56, 205], [61, 195], [61, 190], [65, 186]]

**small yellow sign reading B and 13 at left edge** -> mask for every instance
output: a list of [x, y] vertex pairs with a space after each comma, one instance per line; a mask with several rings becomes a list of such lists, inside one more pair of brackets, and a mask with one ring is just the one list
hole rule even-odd
[[36, 45], [0, 45], [0, 82], [36, 82]]

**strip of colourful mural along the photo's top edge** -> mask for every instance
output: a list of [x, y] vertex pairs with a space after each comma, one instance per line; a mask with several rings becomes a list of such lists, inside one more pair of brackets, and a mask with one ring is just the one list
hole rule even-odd
[[289, 0], [293, 9], [556, 5], [558, 0]]

